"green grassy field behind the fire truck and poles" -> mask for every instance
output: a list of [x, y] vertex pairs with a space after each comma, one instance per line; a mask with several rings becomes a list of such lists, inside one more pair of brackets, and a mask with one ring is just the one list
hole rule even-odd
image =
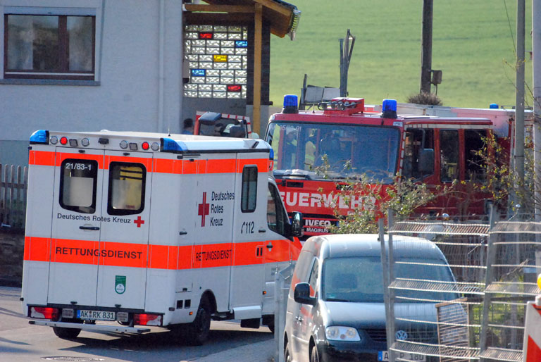
[[[340, 86], [340, 43], [356, 37], [349, 96], [367, 104], [405, 102], [419, 92], [423, 0], [291, 0], [301, 13], [297, 37], [272, 37], [270, 100], [311, 85]], [[507, 11], [506, 11], [507, 8]], [[509, 20], [508, 20], [509, 15]], [[531, 106], [531, 0], [526, 0], [526, 105]], [[443, 71], [445, 106], [515, 104], [516, 1], [434, 1], [432, 68]], [[433, 87], [433, 92], [435, 88]]]

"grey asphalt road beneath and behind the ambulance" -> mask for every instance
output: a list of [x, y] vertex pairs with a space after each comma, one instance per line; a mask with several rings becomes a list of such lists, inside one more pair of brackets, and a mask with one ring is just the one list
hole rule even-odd
[[21, 313], [20, 288], [0, 287], [0, 361], [270, 362], [273, 335], [268, 328], [240, 328], [212, 322], [209, 341], [190, 347], [173, 332], [152, 327], [145, 335], [81, 332], [59, 339], [51, 327], [29, 325]]

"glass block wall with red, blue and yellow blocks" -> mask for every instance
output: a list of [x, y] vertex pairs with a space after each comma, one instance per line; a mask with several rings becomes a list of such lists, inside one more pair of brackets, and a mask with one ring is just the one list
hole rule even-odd
[[245, 26], [186, 25], [184, 96], [246, 99], [248, 30]]

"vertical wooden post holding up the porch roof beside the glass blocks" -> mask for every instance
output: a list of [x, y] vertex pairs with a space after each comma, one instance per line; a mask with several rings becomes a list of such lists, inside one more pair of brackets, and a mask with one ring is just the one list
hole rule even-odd
[[252, 131], [261, 135], [261, 49], [263, 28], [263, 6], [255, 4], [254, 15], [254, 111], [252, 113]]

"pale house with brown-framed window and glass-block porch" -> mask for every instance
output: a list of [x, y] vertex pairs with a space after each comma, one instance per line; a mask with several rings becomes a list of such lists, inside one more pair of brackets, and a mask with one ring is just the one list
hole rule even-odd
[[179, 133], [196, 111], [264, 129], [270, 36], [293, 39], [300, 15], [281, 0], [0, 0], [0, 12], [7, 164], [27, 163], [39, 129]]

